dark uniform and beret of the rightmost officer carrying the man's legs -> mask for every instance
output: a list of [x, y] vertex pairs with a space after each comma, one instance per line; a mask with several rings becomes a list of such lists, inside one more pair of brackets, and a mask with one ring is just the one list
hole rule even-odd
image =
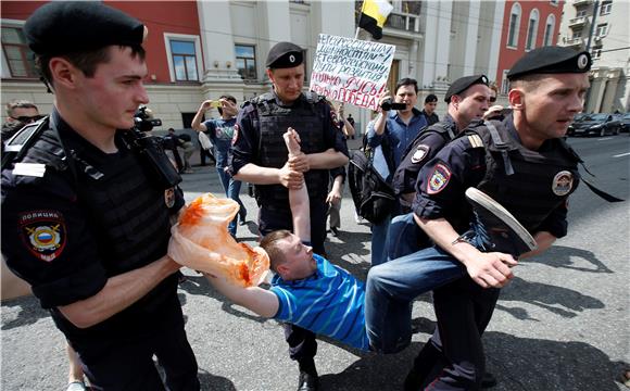
[[[521, 58], [507, 77], [514, 81], [532, 74], [585, 73], [589, 68], [587, 52], [544, 47]], [[579, 161], [563, 139], [547, 139], [536, 151], [525, 148], [512, 114], [503, 122], [475, 124], [423, 168], [414, 211], [427, 219], [444, 217], [462, 232], [472, 220], [471, 212], [461, 207], [467, 204], [464, 191], [477, 187], [531, 235], [549, 231], [562, 238], [567, 234], [568, 197], [579, 182]], [[439, 328], [415, 363], [415, 368], [436, 366], [433, 376], [436, 369], [442, 370], [437, 379], [425, 379], [431, 389], [480, 387], [484, 373], [481, 336], [499, 294], [500, 289], [483, 289], [467, 274], [434, 290]], [[438, 363], [440, 356], [446, 364]], [[429, 369], [420, 370], [426, 376]]]

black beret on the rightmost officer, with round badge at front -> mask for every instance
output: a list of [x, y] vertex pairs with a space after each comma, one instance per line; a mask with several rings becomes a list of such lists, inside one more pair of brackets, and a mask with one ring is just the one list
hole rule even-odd
[[507, 73], [507, 79], [516, 80], [531, 74], [584, 73], [589, 70], [589, 52], [563, 47], [542, 47], [521, 56]]

